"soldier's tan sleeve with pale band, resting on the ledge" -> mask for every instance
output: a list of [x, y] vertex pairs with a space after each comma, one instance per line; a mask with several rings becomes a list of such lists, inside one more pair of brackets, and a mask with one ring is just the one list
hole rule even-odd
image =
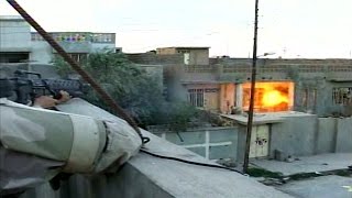
[[141, 147], [124, 120], [85, 100], [72, 99], [57, 109], [0, 99], [0, 195], [33, 187], [59, 172], [114, 170]]

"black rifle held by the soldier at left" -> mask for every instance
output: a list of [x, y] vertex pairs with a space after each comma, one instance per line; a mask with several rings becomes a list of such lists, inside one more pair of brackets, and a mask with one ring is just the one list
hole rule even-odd
[[33, 103], [35, 98], [45, 95], [59, 99], [61, 90], [67, 91], [72, 97], [81, 97], [87, 92], [87, 87], [77, 79], [43, 79], [38, 73], [15, 70], [14, 77], [0, 78], [0, 98], [9, 98], [18, 103], [28, 105]]

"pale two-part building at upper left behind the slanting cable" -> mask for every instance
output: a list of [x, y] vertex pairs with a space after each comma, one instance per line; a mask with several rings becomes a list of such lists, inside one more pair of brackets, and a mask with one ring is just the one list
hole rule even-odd
[[[89, 53], [121, 51], [116, 33], [50, 32], [53, 38], [76, 61]], [[0, 63], [35, 62], [48, 64], [56, 52], [21, 16], [0, 16]]]

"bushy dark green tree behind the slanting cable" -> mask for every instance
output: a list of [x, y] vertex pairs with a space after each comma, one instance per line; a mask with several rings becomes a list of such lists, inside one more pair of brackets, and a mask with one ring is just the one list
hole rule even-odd
[[[53, 63], [63, 77], [75, 74], [62, 58], [56, 57]], [[166, 102], [156, 77], [131, 63], [122, 53], [90, 54], [81, 65], [140, 127], [169, 124], [172, 130], [180, 131], [187, 129], [197, 114], [196, 109], [186, 103]], [[85, 99], [109, 111], [95, 90], [89, 90]]]

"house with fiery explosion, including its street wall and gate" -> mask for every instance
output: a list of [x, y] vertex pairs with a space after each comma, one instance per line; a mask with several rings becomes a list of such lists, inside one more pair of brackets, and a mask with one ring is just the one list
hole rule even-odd
[[[207, 57], [201, 63], [208, 64], [190, 64], [185, 57], [194, 59], [191, 51], [193, 47], [167, 47], [129, 58], [163, 65], [169, 100], [220, 113], [233, 128], [227, 132], [209, 128], [155, 133], [205, 157], [241, 163], [252, 59]], [[352, 122], [343, 117], [352, 116], [352, 59], [258, 59], [254, 110], [251, 158], [286, 161], [293, 156], [351, 152]]]

